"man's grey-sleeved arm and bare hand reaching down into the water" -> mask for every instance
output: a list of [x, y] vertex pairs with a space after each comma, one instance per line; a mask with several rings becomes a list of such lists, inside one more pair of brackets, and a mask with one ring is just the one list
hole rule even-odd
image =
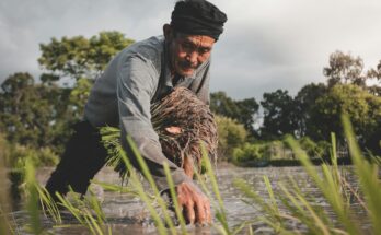
[[153, 130], [150, 114], [151, 93], [154, 92], [155, 70], [145, 58], [130, 57], [118, 68], [117, 98], [122, 129], [122, 145], [132, 164], [138, 167], [126, 140], [130, 134], [158, 185], [159, 190], [168, 189], [163, 162], [166, 162], [175, 183], [178, 203], [184, 208], [188, 223], [210, 223], [208, 198], [188, 178], [184, 171], [169, 161], [162, 153], [159, 137]]

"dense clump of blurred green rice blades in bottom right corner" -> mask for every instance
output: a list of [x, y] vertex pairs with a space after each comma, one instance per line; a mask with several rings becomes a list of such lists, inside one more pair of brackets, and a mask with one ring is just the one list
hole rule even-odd
[[[309, 196], [303, 193], [301, 188], [291, 178], [287, 186], [284, 183], [277, 183], [280, 192], [274, 196], [273, 187], [265, 176], [266, 188], [269, 195], [269, 201], [265, 201], [247, 183], [236, 179], [234, 185], [251, 199], [249, 204], [258, 205], [264, 214], [262, 221], [273, 227], [275, 233], [309, 233], [309, 234], [363, 234], [369, 231], [363, 230], [358, 223], [356, 213], [350, 208], [349, 198], [357, 200], [362, 208], [368, 211], [371, 219], [372, 233], [380, 234], [381, 221], [381, 188], [379, 179], [379, 165], [367, 162], [362, 156], [360, 149], [355, 140], [355, 133], [346, 116], [343, 116], [344, 132], [348, 141], [350, 156], [354, 162], [354, 169], [361, 193], [355, 191], [345, 180], [343, 173], [337, 166], [337, 156], [335, 150], [335, 137], [333, 136], [332, 165], [324, 163], [320, 171], [315, 167], [305, 152], [298, 145], [298, 142], [289, 138], [287, 141], [301, 162], [304, 171], [312, 181], [319, 188], [326, 202], [332, 208], [337, 221], [324, 211], [321, 205], [315, 205], [309, 200]], [[350, 196], [350, 197], [349, 197]], [[313, 200], [313, 199], [312, 199]], [[284, 212], [278, 207], [287, 210]], [[363, 221], [363, 220], [362, 220]], [[299, 224], [299, 228], [289, 226], [290, 222]]]

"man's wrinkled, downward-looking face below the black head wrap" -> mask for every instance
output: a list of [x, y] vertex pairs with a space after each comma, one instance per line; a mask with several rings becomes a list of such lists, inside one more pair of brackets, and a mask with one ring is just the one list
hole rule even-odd
[[170, 39], [171, 69], [183, 77], [194, 71], [210, 57], [215, 38], [205, 35], [177, 33]]

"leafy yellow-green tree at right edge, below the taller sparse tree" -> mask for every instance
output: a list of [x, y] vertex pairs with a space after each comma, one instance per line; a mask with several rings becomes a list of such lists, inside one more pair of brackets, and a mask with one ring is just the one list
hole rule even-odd
[[332, 131], [344, 140], [340, 114], [345, 113], [350, 117], [359, 143], [380, 153], [381, 97], [356, 85], [336, 85], [316, 101], [316, 111], [320, 121], [315, 125], [325, 140], [330, 139]]

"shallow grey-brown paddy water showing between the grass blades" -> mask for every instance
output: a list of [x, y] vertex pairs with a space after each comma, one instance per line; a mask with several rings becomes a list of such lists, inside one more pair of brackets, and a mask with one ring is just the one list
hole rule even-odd
[[[50, 168], [43, 168], [38, 171], [37, 179], [41, 184], [45, 184], [49, 176]], [[322, 199], [316, 187], [311, 184], [305, 173], [301, 167], [266, 167], [266, 168], [240, 168], [231, 165], [220, 165], [217, 169], [217, 177], [219, 183], [219, 189], [223, 198], [224, 207], [227, 210], [228, 222], [231, 227], [238, 226], [244, 221], [251, 221], [263, 216], [263, 212], [258, 210], [255, 204], [246, 204], [242, 201], [243, 196], [232, 185], [233, 179], [245, 179], [264, 199], [268, 199], [268, 193], [263, 180], [263, 176], [268, 176], [275, 193], [280, 193], [278, 183], [284, 185], [290, 184], [289, 176], [301, 186], [303, 192], [308, 192], [314, 203], [323, 205], [325, 210], [331, 213], [330, 208], [325, 200]], [[350, 179], [350, 177], [349, 177]], [[104, 168], [96, 175], [96, 180], [120, 184], [118, 175], [111, 168]], [[351, 179], [350, 179], [351, 180]], [[354, 180], [353, 180], [354, 181]], [[356, 183], [354, 183], [356, 184]], [[100, 200], [102, 200], [102, 207], [107, 218], [107, 224], [111, 225], [113, 234], [157, 234], [152, 221], [148, 216], [148, 212], [143, 209], [142, 202], [134, 196], [103, 191], [100, 187], [93, 188]], [[354, 208], [359, 208], [354, 203]], [[281, 209], [282, 210], [282, 209]], [[358, 213], [362, 213], [362, 210], [357, 210]], [[20, 226], [21, 234], [24, 234], [22, 224], [25, 224], [25, 212], [20, 210], [12, 213], [14, 221]], [[332, 216], [335, 220], [334, 216]], [[71, 226], [57, 227], [53, 226], [48, 219], [43, 219], [44, 226], [54, 234], [90, 234], [89, 231], [76, 222], [69, 214], [64, 214], [64, 221]], [[216, 224], [218, 224], [215, 219]], [[298, 226], [292, 225], [291, 226]], [[213, 227], [194, 227], [188, 226], [190, 234], [218, 234]], [[296, 227], [302, 230], [300, 227]], [[272, 232], [264, 224], [256, 222], [254, 230], [257, 233]]]

